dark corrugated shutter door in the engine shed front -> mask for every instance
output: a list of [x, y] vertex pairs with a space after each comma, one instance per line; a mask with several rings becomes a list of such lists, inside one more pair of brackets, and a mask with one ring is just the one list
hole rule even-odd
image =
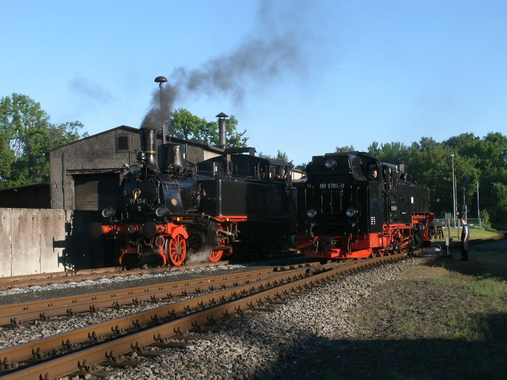
[[102, 210], [116, 206], [120, 194], [119, 174], [75, 174], [74, 209]]

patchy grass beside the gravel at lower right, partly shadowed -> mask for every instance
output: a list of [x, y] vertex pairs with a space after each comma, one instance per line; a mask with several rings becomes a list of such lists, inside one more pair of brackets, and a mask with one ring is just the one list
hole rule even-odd
[[328, 361], [321, 378], [503, 379], [505, 278], [507, 255], [491, 251], [405, 272], [361, 303], [351, 318], [353, 339], [326, 343], [324, 357], [338, 344], [348, 349], [346, 359]]

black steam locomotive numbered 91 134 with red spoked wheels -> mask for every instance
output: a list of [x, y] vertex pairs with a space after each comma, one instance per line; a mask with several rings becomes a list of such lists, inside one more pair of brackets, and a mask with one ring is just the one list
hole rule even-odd
[[141, 128], [141, 151], [124, 175], [119, 203], [102, 211], [105, 222], [89, 226], [92, 237], [117, 240], [121, 265], [271, 255], [295, 236], [291, 164], [230, 148], [192, 165], [182, 144], [160, 144], [157, 156], [156, 138], [156, 130]]

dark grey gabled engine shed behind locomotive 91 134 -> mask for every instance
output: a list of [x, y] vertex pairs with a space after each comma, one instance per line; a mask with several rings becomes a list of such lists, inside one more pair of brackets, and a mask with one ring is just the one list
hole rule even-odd
[[[182, 139], [171, 141], [185, 144], [187, 160], [195, 164], [222, 152]], [[122, 125], [48, 151], [51, 208], [91, 211], [114, 205], [121, 174], [136, 162], [140, 149], [140, 130]]]

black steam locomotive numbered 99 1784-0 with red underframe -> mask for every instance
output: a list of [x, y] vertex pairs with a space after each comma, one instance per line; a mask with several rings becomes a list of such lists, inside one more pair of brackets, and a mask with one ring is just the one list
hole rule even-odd
[[298, 187], [298, 248], [319, 259], [383, 256], [428, 243], [429, 190], [367, 153], [314, 156]]

